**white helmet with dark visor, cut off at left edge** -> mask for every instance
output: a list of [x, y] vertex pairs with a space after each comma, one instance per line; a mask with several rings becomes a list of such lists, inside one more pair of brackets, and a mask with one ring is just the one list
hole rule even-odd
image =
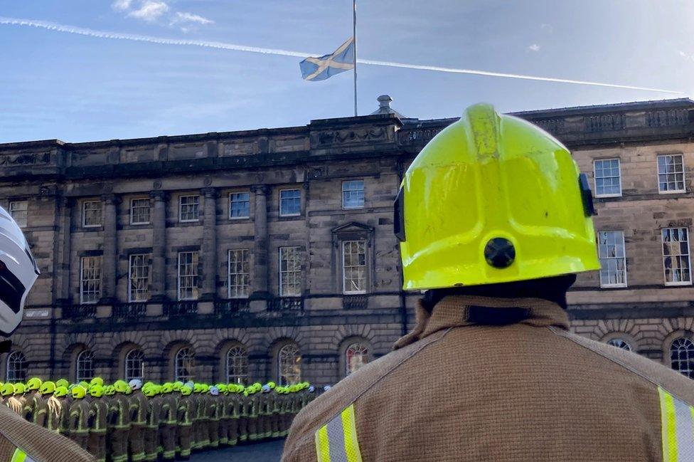
[[24, 300], [38, 273], [24, 234], [0, 207], [0, 334], [11, 335], [21, 322]]

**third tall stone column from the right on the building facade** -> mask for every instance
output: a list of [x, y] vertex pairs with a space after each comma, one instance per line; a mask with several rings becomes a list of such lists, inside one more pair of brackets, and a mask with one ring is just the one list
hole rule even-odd
[[151, 191], [152, 206], [152, 274], [149, 299], [166, 301], [166, 199], [165, 191]]

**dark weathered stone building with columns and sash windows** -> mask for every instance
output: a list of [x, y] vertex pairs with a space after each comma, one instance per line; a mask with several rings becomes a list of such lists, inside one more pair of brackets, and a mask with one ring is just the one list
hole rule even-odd
[[[1, 378], [329, 384], [387, 353], [417, 298], [400, 290], [393, 199], [454, 119], [381, 104], [303, 127], [0, 145], [0, 204], [42, 271]], [[572, 289], [572, 329], [691, 372], [694, 102], [517, 115], [594, 181], [604, 271]]]

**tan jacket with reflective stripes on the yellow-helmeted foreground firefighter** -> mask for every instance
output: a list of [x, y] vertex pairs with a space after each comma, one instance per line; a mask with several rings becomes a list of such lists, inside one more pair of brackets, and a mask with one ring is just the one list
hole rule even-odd
[[[528, 317], [472, 321], [505, 308]], [[567, 327], [540, 299], [420, 304], [397, 350], [299, 413], [282, 461], [694, 461], [694, 382]]]

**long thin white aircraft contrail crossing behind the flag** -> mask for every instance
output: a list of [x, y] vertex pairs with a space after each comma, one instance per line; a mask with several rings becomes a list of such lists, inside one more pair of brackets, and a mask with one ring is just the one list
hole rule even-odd
[[[95, 29], [66, 26], [64, 24], [53, 23], [49, 21], [40, 21], [35, 19], [16, 19], [16, 18], [5, 18], [0, 16], [0, 25], [8, 26], [30, 26], [47, 29], [49, 31], [65, 32], [65, 33], [76, 33], [81, 36], [95, 37], [95, 38], [111, 38], [116, 40], [129, 40], [138, 42], [148, 42], [157, 43], [159, 45], [176, 45], [176, 46], [201, 46], [204, 48], [219, 48], [223, 50], [233, 50], [233, 51], [245, 51], [247, 53], [262, 53], [266, 55], [277, 55], [277, 56], [295, 56], [297, 58], [306, 58], [308, 56], [321, 56], [324, 53], [306, 53], [304, 51], [291, 51], [282, 50], [279, 48], [261, 48], [257, 46], [245, 46], [237, 45], [235, 43], [225, 43], [216, 41], [203, 41], [203, 40], [183, 40], [179, 38], [162, 38], [154, 36], [142, 36], [132, 33], [120, 33], [120, 32], [109, 32], [109, 31], [97, 31]], [[587, 80], [572, 80], [567, 78], [553, 78], [553, 77], [540, 77], [538, 75], [525, 75], [525, 74], [511, 74], [502, 72], [492, 72], [489, 70], [475, 70], [475, 69], [460, 69], [460, 68], [447, 68], [438, 65], [419, 65], [419, 64], [407, 64], [407, 63], [394, 63], [390, 61], [375, 61], [371, 59], [358, 59], [357, 63], [366, 65], [380, 65], [390, 68], [405, 68], [405, 69], [419, 69], [419, 70], [432, 70], [434, 72], [447, 72], [447, 73], [457, 73], [457, 74], [472, 74], [472, 75], [486, 75], [488, 77], [501, 77], [501, 78], [516, 78], [523, 80], [540, 80], [543, 82], [555, 82], [555, 83], [572, 83], [576, 85], [592, 85], [597, 87], [609, 87], [609, 88], [624, 88], [626, 90], [643, 90], [658, 93], [675, 93], [682, 95], [683, 92], [675, 90], [663, 90], [661, 88], [648, 88], [648, 87], [637, 87], [634, 85], [619, 85], [616, 83], [601, 83], [601, 82], [590, 82]]]

